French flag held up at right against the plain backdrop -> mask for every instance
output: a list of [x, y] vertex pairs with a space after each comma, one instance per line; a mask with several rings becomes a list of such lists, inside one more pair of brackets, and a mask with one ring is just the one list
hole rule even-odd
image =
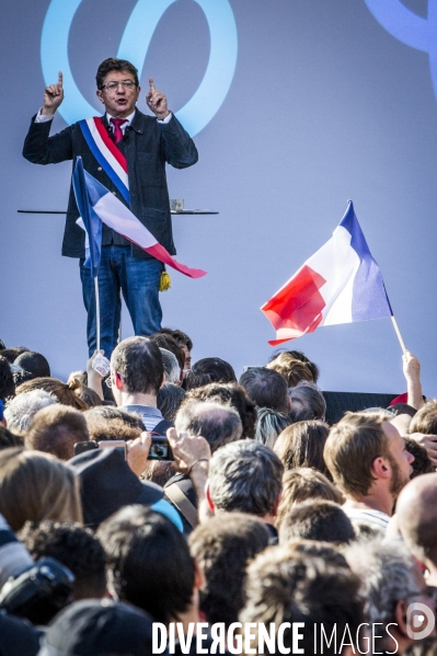
[[332, 238], [261, 310], [276, 330], [272, 346], [321, 325], [392, 317], [381, 272], [352, 200]]

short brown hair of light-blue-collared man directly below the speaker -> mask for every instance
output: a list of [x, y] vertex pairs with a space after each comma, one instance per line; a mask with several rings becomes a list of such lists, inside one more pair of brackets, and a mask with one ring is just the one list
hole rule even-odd
[[147, 337], [128, 337], [111, 356], [111, 368], [133, 393], [156, 394], [162, 384], [164, 367], [159, 346]]

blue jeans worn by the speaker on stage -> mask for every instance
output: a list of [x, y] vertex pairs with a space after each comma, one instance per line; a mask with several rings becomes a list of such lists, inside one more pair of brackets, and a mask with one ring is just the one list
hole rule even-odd
[[[94, 279], [81, 260], [83, 302], [88, 312], [87, 336], [90, 356], [97, 347]], [[111, 357], [117, 345], [122, 299], [125, 299], [136, 335], [151, 335], [161, 327], [159, 284], [163, 265], [158, 260], [134, 257], [130, 246], [102, 246], [99, 271], [100, 347]]]

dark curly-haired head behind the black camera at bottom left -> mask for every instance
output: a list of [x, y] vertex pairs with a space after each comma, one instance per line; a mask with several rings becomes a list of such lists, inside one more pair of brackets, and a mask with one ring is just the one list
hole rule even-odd
[[106, 595], [106, 556], [90, 529], [69, 522], [26, 522], [19, 538], [34, 561], [53, 557], [73, 573], [76, 601]]

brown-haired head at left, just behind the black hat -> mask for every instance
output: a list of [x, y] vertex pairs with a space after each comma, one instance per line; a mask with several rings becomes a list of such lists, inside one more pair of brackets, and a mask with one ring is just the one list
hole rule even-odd
[[89, 439], [83, 413], [56, 403], [36, 413], [28, 426], [24, 444], [33, 451], [45, 451], [59, 460], [70, 460], [74, 456], [76, 442]]

